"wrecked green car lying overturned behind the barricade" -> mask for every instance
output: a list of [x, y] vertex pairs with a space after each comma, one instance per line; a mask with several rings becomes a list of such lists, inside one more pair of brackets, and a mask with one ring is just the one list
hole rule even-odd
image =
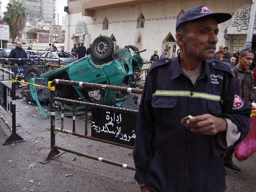
[[[47, 85], [48, 81], [60, 79], [130, 87], [131, 82], [137, 77], [134, 71], [141, 70], [144, 64], [140, 52], [142, 51], [131, 45], [114, 51], [112, 40], [106, 36], [99, 36], [92, 43], [91, 55], [56, 70], [42, 73], [39, 78], [31, 76], [29, 82]], [[50, 98], [49, 90], [32, 86], [30, 89], [36, 101]], [[134, 105], [137, 104], [136, 97], [129, 93], [57, 85], [55, 94], [63, 99], [137, 109], [137, 105]]]

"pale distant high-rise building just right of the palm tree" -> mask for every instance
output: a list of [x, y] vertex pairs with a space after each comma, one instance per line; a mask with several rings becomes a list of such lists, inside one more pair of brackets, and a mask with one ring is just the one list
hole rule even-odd
[[[13, 2], [16, 0], [11, 0]], [[44, 21], [55, 24], [56, 0], [22, 0], [27, 9], [27, 22]]]

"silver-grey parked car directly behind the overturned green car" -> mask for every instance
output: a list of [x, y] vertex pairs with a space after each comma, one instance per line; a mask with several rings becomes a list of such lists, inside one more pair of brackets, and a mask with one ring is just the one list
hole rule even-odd
[[45, 59], [47, 62], [50, 63], [59, 63], [62, 65], [67, 65], [78, 60], [70, 53], [50, 51], [42, 53], [42, 55], [40, 55], [40, 58]]

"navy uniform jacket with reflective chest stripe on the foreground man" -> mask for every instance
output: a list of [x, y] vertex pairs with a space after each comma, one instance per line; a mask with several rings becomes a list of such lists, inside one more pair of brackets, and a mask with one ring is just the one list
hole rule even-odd
[[225, 191], [225, 149], [218, 134], [195, 134], [180, 121], [188, 115], [227, 117], [241, 132], [237, 144], [249, 132], [250, 116], [249, 106], [238, 95], [237, 80], [219, 61], [206, 60], [194, 86], [179, 58], [153, 63], [137, 117], [133, 151], [137, 183], [153, 192]]

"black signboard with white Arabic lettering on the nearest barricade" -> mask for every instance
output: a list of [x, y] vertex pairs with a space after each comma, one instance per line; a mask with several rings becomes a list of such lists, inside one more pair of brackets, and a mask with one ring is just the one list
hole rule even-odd
[[91, 135], [99, 139], [134, 146], [136, 114], [92, 109]]

